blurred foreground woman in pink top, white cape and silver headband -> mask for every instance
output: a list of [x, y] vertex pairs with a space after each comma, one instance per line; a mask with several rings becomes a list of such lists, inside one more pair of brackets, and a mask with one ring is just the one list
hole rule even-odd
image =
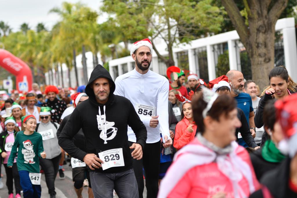
[[249, 154], [235, 140], [236, 102], [207, 88], [192, 101], [197, 137], [179, 150], [159, 198], [243, 198], [260, 188]]

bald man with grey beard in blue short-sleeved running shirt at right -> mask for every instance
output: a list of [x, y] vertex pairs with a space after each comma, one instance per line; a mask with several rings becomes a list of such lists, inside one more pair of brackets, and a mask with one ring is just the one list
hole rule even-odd
[[[243, 110], [245, 117], [247, 118], [247, 123], [249, 123], [249, 128], [251, 130], [252, 136], [255, 138], [255, 122], [254, 122], [254, 109], [252, 106], [252, 98], [249, 94], [243, 93], [244, 89], [244, 77], [243, 74], [238, 70], [230, 70], [227, 72], [226, 76], [229, 79], [229, 84], [231, 87], [231, 96], [233, 96], [237, 101], [237, 107]], [[247, 144], [238, 133], [239, 144], [248, 147]]]

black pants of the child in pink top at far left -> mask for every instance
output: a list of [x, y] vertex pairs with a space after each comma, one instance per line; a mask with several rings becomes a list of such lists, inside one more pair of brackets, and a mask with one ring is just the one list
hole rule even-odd
[[12, 168], [8, 168], [7, 164], [3, 164], [6, 172], [6, 186], [8, 194], [13, 193], [13, 180], [15, 180], [15, 194], [20, 194], [20, 176], [18, 175], [17, 163], [13, 163]]

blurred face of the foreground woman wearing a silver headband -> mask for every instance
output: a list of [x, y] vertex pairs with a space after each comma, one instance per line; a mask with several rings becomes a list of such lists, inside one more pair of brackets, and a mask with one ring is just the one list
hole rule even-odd
[[223, 113], [220, 115], [219, 121], [213, 120], [211, 125], [214, 138], [219, 143], [217, 145], [220, 145], [222, 148], [230, 145], [232, 141], [236, 140], [236, 128], [241, 126], [241, 122], [237, 117], [237, 109], [235, 108], [227, 115]]

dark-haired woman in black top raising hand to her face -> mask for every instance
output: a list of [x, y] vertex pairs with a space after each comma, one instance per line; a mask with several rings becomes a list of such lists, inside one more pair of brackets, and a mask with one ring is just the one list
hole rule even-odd
[[[268, 77], [270, 85], [261, 94], [258, 110], [255, 115], [255, 125], [257, 128], [261, 128], [264, 125], [263, 110], [266, 103], [270, 100], [284, 99], [286, 96], [294, 94], [297, 88], [297, 84], [290, 78], [284, 66], [274, 67], [269, 72]], [[270, 139], [270, 137], [267, 135], [267, 132], [264, 132], [261, 146], [268, 139]]]

